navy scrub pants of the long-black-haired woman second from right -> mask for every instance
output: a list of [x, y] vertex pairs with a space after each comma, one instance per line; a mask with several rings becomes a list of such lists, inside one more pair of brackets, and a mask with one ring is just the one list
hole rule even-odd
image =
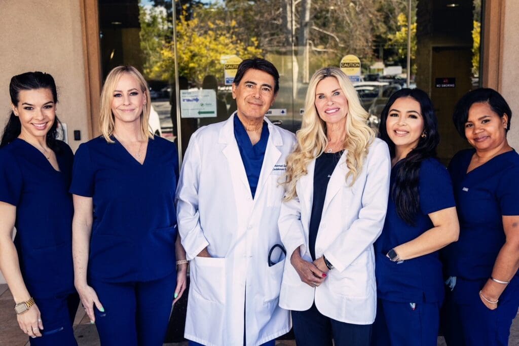
[[372, 346], [436, 346], [439, 303], [377, 300]]

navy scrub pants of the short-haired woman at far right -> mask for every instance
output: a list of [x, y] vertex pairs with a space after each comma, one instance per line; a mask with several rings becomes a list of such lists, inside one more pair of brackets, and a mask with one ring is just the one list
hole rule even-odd
[[507, 287], [497, 309], [490, 310], [479, 295], [485, 282], [457, 278], [454, 290], [447, 288], [442, 329], [448, 346], [508, 345], [512, 320], [519, 307], [519, 289]]

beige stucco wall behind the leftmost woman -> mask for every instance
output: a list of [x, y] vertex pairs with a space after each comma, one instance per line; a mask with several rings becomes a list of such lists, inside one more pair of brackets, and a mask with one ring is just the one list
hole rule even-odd
[[[58, 116], [67, 124], [75, 150], [74, 130], [88, 139], [87, 99], [80, 3], [71, 0], [0, 0], [0, 125], [10, 110], [9, 80], [27, 71], [43, 71], [56, 79]], [[0, 283], [4, 283], [0, 274]]]

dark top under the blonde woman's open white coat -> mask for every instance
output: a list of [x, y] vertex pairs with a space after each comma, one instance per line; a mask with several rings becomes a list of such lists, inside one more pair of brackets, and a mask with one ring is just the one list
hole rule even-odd
[[321, 156], [316, 159], [316, 166], [313, 170], [312, 212], [310, 214], [310, 226], [308, 229], [308, 247], [313, 260], [316, 259], [317, 232], [321, 224], [326, 190], [332, 173], [342, 155], [343, 151], [338, 151], [337, 153], [322, 153]]

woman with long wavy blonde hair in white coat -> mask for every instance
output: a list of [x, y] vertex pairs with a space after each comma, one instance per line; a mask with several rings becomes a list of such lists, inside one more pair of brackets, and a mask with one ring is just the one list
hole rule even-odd
[[298, 346], [370, 344], [373, 243], [384, 226], [391, 165], [367, 116], [339, 68], [313, 75], [279, 218], [287, 257], [279, 303], [292, 310]]

